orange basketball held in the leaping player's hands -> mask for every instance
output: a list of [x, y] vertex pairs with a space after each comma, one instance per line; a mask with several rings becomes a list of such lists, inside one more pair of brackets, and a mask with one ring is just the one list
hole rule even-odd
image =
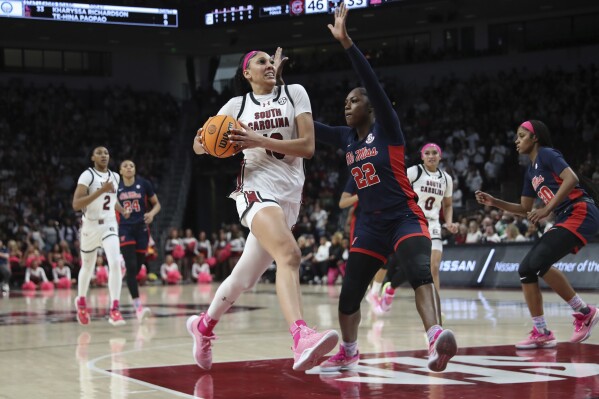
[[231, 144], [229, 135], [231, 129], [240, 127], [239, 122], [229, 115], [216, 115], [208, 118], [201, 133], [206, 152], [217, 158], [228, 158], [235, 155], [238, 147]]

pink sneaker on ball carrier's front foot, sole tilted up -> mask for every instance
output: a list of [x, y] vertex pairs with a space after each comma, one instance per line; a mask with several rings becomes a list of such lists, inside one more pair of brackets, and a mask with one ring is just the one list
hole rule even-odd
[[293, 349], [293, 369], [296, 371], [309, 370], [318, 361], [337, 346], [339, 335], [337, 331], [326, 330], [316, 332], [306, 326], [300, 326], [300, 339]]

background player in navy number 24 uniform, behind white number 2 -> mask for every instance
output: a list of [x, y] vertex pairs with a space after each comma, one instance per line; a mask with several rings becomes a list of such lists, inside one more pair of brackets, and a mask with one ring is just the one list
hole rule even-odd
[[[131, 213], [129, 218], [119, 218], [121, 254], [125, 260], [125, 279], [135, 315], [137, 320], [142, 322], [151, 311], [141, 304], [137, 275], [146, 262], [150, 241], [149, 224], [161, 208], [152, 183], [136, 175], [133, 161], [126, 159], [121, 162], [120, 174], [122, 179], [119, 183], [118, 200], [121, 206]], [[148, 203], [151, 204], [151, 209]]]

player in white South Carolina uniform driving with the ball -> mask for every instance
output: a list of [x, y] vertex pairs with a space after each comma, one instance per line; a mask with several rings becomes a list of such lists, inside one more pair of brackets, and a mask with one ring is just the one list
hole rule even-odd
[[[279, 304], [294, 341], [293, 369], [312, 368], [338, 341], [337, 332], [318, 333], [303, 320], [301, 253], [291, 228], [301, 205], [303, 158], [314, 154], [314, 125], [306, 90], [300, 85], [276, 85], [280, 50], [275, 60], [263, 51], [245, 54], [235, 76], [242, 95], [218, 112], [238, 119], [243, 127], [233, 129], [230, 136], [244, 154], [237, 188], [230, 197], [250, 234], [241, 258], [216, 291], [208, 311], [187, 321], [194, 337], [193, 354], [203, 369], [212, 366], [214, 326], [241, 293], [256, 284], [273, 259]], [[193, 147], [197, 154], [205, 152], [199, 137]]]

